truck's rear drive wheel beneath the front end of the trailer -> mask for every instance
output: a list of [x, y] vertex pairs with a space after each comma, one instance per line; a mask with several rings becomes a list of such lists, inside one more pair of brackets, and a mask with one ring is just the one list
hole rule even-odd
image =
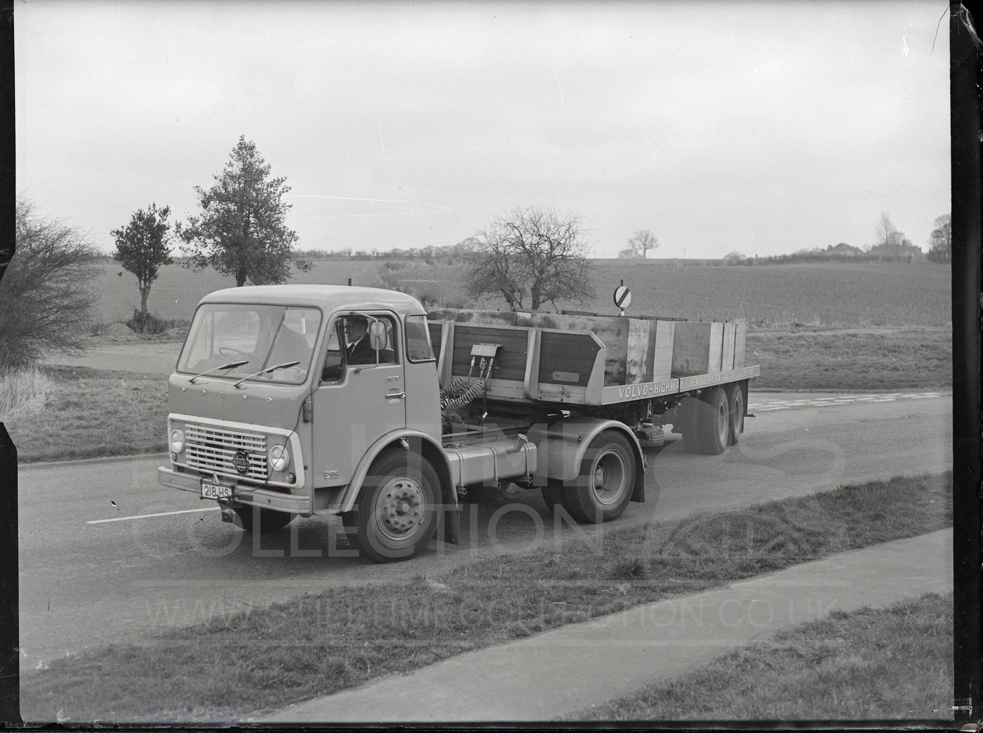
[[621, 516], [635, 489], [635, 454], [627, 438], [606, 430], [591, 442], [563, 507], [578, 522], [598, 524]]

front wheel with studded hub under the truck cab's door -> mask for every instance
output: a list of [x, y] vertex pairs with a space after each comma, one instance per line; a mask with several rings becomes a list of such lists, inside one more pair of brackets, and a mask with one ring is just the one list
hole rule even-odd
[[376, 562], [413, 557], [434, 536], [439, 501], [440, 480], [426, 458], [383, 452], [359, 492], [359, 547]]

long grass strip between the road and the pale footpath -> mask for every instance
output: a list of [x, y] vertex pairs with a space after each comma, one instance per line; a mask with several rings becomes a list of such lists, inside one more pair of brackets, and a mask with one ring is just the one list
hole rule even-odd
[[[26, 720], [231, 720], [671, 595], [952, 526], [952, 474], [562, 535], [405, 583], [216, 613], [24, 673]], [[554, 551], [549, 551], [554, 549]], [[407, 574], [409, 576], [409, 573]]]

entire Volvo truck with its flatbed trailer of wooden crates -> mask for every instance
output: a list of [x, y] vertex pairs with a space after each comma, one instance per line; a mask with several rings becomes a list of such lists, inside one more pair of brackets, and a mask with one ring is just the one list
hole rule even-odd
[[158, 482], [246, 532], [340, 515], [379, 562], [456, 542], [465, 501], [541, 492], [580, 523], [645, 500], [665, 426], [720, 454], [747, 415], [741, 321], [431, 310], [262, 285], [202, 298], [168, 380]]

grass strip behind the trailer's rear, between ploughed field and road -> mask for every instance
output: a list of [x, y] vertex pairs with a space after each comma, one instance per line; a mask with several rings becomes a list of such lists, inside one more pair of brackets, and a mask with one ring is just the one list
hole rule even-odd
[[760, 364], [755, 389], [949, 388], [951, 328], [749, 331], [745, 362]]

